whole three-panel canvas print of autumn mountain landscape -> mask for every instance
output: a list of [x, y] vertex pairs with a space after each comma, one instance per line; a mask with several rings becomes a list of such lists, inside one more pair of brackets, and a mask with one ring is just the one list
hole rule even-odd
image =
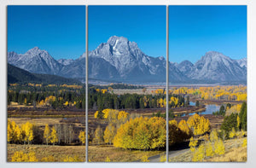
[[7, 58], [8, 162], [247, 161], [247, 6], [8, 6]]

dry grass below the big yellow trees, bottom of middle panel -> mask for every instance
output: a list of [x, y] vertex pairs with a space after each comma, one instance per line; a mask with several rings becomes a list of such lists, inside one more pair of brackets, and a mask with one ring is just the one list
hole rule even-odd
[[144, 155], [148, 157], [157, 154], [165, 154], [166, 151], [143, 151], [143, 150], [125, 150], [114, 148], [109, 145], [89, 146], [88, 159], [91, 162], [104, 162], [108, 156], [111, 162], [131, 162], [140, 160]]

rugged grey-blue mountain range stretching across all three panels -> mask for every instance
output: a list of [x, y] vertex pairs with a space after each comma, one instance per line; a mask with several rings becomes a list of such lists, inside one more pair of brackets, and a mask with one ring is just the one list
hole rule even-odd
[[[166, 59], [143, 53], [137, 43], [113, 36], [89, 52], [89, 78], [128, 83], [166, 82]], [[55, 60], [35, 47], [25, 54], [8, 53], [8, 63], [28, 72], [54, 74], [65, 78], [85, 78], [85, 53], [78, 59]], [[209, 51], [193, 64], [169, 62], [169, 80], [173, 83], [246, 83], [247, 58], [233, 60]]]

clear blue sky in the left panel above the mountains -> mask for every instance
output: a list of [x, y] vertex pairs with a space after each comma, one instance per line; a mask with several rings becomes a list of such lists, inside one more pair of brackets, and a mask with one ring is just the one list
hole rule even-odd
[[85, 51], [85, 6], [9, 6], [8, 51], [38, 46], [55, 59]]

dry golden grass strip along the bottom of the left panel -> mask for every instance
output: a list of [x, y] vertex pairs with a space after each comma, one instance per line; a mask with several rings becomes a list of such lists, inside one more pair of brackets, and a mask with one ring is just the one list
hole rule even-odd
[[25, 154], [34, 152], [38, 161], [44, 157], [53, 156], [55, 162], [61, 162], [68, 157], [77, 156], [79, 160], [85, 161], [85, 146], [52, 146], [52, 145], [19, 145], [8, 144], [7, 156], [8, 161], [11, 161], [11, 156], [16, 151], [22, 151]]

